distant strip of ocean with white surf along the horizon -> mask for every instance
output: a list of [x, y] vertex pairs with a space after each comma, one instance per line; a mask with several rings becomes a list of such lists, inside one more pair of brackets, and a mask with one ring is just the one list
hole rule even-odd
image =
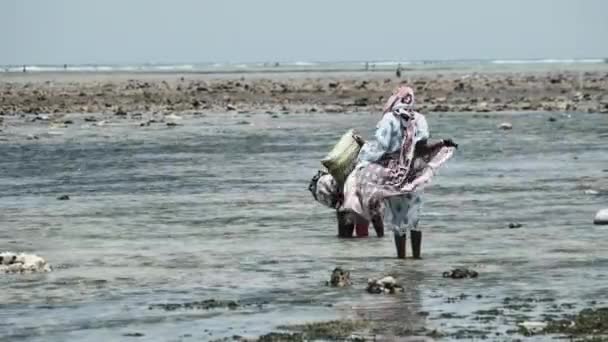
[[[254, 63], [143, 63], [143, 64], [79, 64], [26, 65], [29, 72], [330, 72], [330, 71], [394, 71], [401, 66], [413, 71], [513, 71], [513, 70], [605, 70], [606, 58], [586, 59], [493, 59], [493, 60], [392, 60], [392, 61], [279, 61]], [[23, 72], [23, 65], [0, 65], [0, 73]]]

